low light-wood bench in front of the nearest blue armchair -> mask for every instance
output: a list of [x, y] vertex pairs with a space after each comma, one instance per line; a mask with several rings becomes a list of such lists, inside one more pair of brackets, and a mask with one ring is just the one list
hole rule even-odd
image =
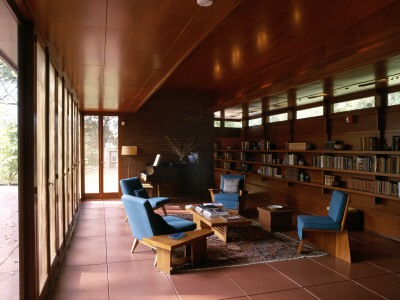
[[[179, 239], [173, 239], [166, 235], [158, 235], [143, 238], [143, 242], [157, 249], [157, 268], [166, 274], [171, 274], [175, 268], [191, 262], [192, 266], [198, 266], [207, 259], [207, 237], [213, 235], [211, 230], [187, 231]], [[172, 250], [186, 246], [185, 257], [172, 259]]]

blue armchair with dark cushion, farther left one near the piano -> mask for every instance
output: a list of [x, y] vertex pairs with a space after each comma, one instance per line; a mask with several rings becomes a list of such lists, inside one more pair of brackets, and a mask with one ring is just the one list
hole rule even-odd
[[164, 215], [167, 215], [164, 204], [168, 203], [170, 199], [167, 197], [150, 198], [146, 190], [143, 188], [139, 177], [122, 179], [119, 183], [121, 185], [122, 194], [147, 199], [153, 209], [161, 208]]

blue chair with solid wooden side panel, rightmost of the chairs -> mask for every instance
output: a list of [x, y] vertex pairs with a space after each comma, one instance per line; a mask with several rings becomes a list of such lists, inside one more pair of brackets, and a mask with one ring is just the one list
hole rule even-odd
[[307, 238], [333, 256], [351, 262], [349, 237], [344, 226], [349, 202], [348, 194], [334, 190], [328, 216], [297, 216], [298, 253], [301, 253], [304, 238]]

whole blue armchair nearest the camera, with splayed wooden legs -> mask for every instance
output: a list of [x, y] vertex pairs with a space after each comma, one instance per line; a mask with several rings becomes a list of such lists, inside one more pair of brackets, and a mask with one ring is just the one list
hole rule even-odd
[[123, 195], [121, 199], [134, 238], [132, 253], [139, 242], [143, 243], [144, 237], [191, 231], [197, 227], [196, 223], [181, 218], [160, 216], [153, 211], [148, 199], [129, 195]]

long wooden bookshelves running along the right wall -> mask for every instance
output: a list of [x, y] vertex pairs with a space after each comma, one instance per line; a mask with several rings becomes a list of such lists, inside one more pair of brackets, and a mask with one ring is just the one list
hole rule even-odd
[[[380, 199], [388, 199], [388, 200], [394, 200], [394, 201], [400, 201], [400, 197], [397, 196], [392, 196], [390, 194], [396, 193], [396, 195], [400, 195], [398, 189], [400, 188], [400, 171], [399, 168], [395, 166], [394, 170], [397, 171], [396, 173], [389, 173], [389, 172], [373, 172], [373, 171], [361, 171], [361, 170], [354, 170], [354, 169], [341, 169], [341, 168], [326, 168], [326, 167], [318, 167], [318, 166], [312, 166], [312, 161], [313, 161], [313, 156], [329, 156], [332, 158], [340, 158], [342, 157], [350, 157], [353, 160], [357, 158], [366, 158], [366, 161], [368, 163], [371, 163], [371, 161], [374, 162], [375, 159], [375, 164], [377, 164], [377, 158], [389, 158], [389, 157], [395, 157], [395, 162], [400, 161], [400, 151], [353, 151], [353, 150], [242, 150], [242, 149], [218, 149], [215, 150], [215, 152], [219, 153], [224, 153], [224, 152], [230, 152], [234, 156], [235, 159], [223, 159], [223, 158], [215, 158], [214, 161], [218, 162], [220, 164], [224, 164], [224, 162], [229, 162], [230, 163], [230, 168], [231, 169], [225, 169], [221, 167], [215, 167], [215, 170], [218, 171], [226, 171], [232, 174], [245, 174], [248, 176], [256, 176], [260, 177], [263, 181], [265, 180], [277, 180], [277, 181], [284, 181], [287, 182], [288, 185], [292, 184], [302, 184], [306, 186], [311, 186], [315, 188], [321, 188], [322, 192], [327, 191], [327, 190], [340, 190], [344, 191], [347, 193], [353, 193], [353, 194], [359, 194], [359, 195], [364, 195], [364, 196], [369, 196], [369, 197], [374, 197], [375, 203], [379, 204], [382, 203]], [[251, 153], [250, 156], [252, 160], [240, 160], [236, 159], [237, 157], [242, 157], [241, 152], [248, 152]], [[294, 155], [296, 156], [295, 158], [295, 163], [296, 164], [287, 164], [287, 163], [271, 163], [271, 162], [263, 162], [262, 160], [270, 160], [271, 156], [269, 158], [266, 158], [267, 154], [271, 153], [274, 157], [274, 160], [281, 160], [283, 161], [283, 157], [285, 159], [288, 159], [288, 156]], [[264, 155], [263, 159], [261, 157]], [[278, 159], [278, 156], [280, 159]], [[245, 156], [246, 157], [246, 156]], [[303, 160], [305, 165], [300, 165], [298, 164], [298, 159]], [[354, 163], [353, 163], [354, 164]], [[397, 162], [398, 164], [398, 162]], [[248, 165], [249, 170], [248, 172], [243, 171], [243, 165]], [[371, 166], [368, 165], [370, 168]], [[256, 172], [256, 168], [259, 168], [259, 170], [262, 170], [261, 172], [264, 172], [263, 168], [268, 168], [269, 173], [266, 175], [265, 173], [258, 173]], [[352, 167], [351, 167], [352, 168]], [[360, 168], [358, 165], [355, 168]], [[374, 167], [375, 169], [377, 167]], [[397, 169], [396, 169], [397, 168]], [[289, 169], [289, 170], [288, 170]], [[246, 168], [247, 170], [247, 168]], [[292, 171], [290, 171], [292, 170]], [[295, 171], [294, 170], [298, 170]], [[270, 176], [271, 172], [273, 174], [275, 173], [281, 173], [283, 172], [291, 172], [290, 177], [288, 173], [287, 178], [285, 175], [279, 175], [279, 177], [275, 176]], [[294, 175], [292, 174], [294, 172]], [[294, 180], [292, 177], [298, 176], [299, 173], [301, 172], [310, 172], [312, 173], [313, 176], [313, 181], [312, 182], [307, 182], [307, 181], [301, 181], [301, 180]], [[317, 173], [316, 173], [317, 172]], [[320, 175], [318, 175], [318, 172], [320, 172]], [[325, 180], [325, 175], [326, 176], [331, 176], [333, 178], [341, 178], [342, 179], [342, 186], [331, 186], [331, 185], [326, 185], [324, 184]], [[282, 177], [281, 177], [282, 176]], [[317, 178], [317, 180], [315, 179]], [[380, 193], [371, 193], [366, 191], [366, 187], [361, 187], [359, 189], [353, 189], [353, 188], [348, 188], [348, 187], [343, 187], [344, 183], [346, 183], [346, 186], [350, 184], [350, 181], [352, 180], [359, 180], [359, 181], [365, 181], [365, 186], [367, 183], [371, 184], [371, 182], [376, 183], [379, 182], [382, 186], [385, 184], [388, 186], [391, 186], [390, 191], [387, 189], [384, 190], [382, 187], [382, 191], [384, 190], [383, 194]], [[395, 185], [395, 186], [394, 186]], [[371, 190], [371, 189], [368, 189]], [[375, 191], [378, 191], [378, 189], [375, 189]], [[379, 190], [380, 191], [380, 190]], [[387, 194], [386, 194], [387, 193]]]

